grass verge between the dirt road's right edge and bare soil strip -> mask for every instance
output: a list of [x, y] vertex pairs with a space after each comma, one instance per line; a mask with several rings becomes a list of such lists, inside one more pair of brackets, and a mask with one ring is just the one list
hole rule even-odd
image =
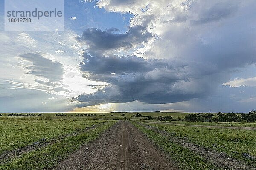
[[151, 129], [139, 125], [137, 122], [131, 121], [131, 123], [145, 133], [155, 144], [169, 153], [170, 158], [177, 163], [180, 170], [222, 170], [200, 156], [200, 154], [193, 153], [186, 147], [170, 142], [167, 136], [162, 136]]

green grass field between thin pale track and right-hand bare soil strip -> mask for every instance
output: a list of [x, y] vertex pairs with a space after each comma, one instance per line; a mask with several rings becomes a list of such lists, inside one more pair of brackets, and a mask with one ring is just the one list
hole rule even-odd
[[238, 158], [241, 161], [256, 164], [255, 161], [242, 157], [242, 153], [249, 153], [252, 156], [256, 156], [256, 131], [254, 130], [143, 123], [157, 127], [160, 130], [165, 130], [172, 136], [186, 139], [192, 143], [216, 150], [220, 153], [224, 152], [228, 156]]

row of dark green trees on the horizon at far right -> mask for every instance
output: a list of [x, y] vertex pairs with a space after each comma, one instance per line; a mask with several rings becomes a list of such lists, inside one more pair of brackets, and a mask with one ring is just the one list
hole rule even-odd
[[214, 117], [212, 113], [206, 114], [188, 114], [185, 116], [186, 121], [190, 122], [254, 122], [256, 121], [256, 111], [250, 111], [249, 114], [241, 114], [238, 116], [236, 113], [217, 113], [218, 117]]

